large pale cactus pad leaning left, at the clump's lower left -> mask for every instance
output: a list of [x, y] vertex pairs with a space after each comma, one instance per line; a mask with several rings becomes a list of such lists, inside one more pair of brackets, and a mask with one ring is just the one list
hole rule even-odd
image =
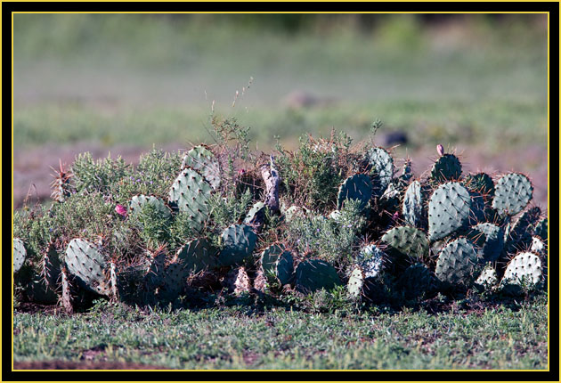
[[106, 257], [92, 242], [76, 238], [66, 249], [66, 265], [84, 289], [110, 296], [110, 286], [105, 278]]

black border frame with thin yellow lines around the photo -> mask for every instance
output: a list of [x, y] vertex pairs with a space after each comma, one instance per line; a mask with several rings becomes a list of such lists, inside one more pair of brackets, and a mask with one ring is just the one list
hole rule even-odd
[[[12, 12], [549, 12], [549, 172], [552, 179], [558, 180], [559, 147], [557, 137], [559, 126], [559, 3], [487, 3], [487, 2], [460, 2], [460, 3], [126, 3], [126, 2], [99, 2], [99, 3], [43, 3], [43, 2], [13, 2], [2, 3], [3, 20], [3, 110], [4, 110], [4, 147], [11, 143], [11, 132], [7, 126], [11, 126], [12, 112], [12, 64], [8, 64], [8, 57], [12, 57]], [[11, 61], [10, 61], [11, 62]], [[10, 110], [8, 113], [7, 110]], [[8, 119], [10, 118], [10, 119]], [[553, 126], [553, 129], [552, 129]], [[555, 129], [555, 130], [554, 130]], [[555, 134], [557, 132], [557, 134]], [[4, 162], [5, 164], [5, 162]], [[6, 167], [6, 165], [4, 165]], [[550, 237], [556, 238], [558, 228], [558, 208], [552, 206], [558, 201], [558, 182], [549, 180], [549, 228]], [[557, 191], [557, 192], [554, 192]], [[4, 194], [4, 207], [8, 204], [7, 193]], [[551, 219], [554, 218], [554, 219]], [[6, 225], [7, 227], [7, 225]], [[3, 237], [6, 238], [7, 230], [4, 229]], [[4, 254], [10, 254], [8, 248], [10, 241], [4, 241]], [[557, 243], [550, 242], [550, 254], [559, 254]], [[11, 290], [12, 265], [9, 265], [9, 257], [4, 257], [4, 278], [2, 279], [4, 289], [4, 342], [7, 342], [7, 334], [11, 333], [11, 322], [7, 322], [8, 313], [11, 312], [11, 299], [7, 297], [6, 291]], [[552, 271], [559, 270], [559, 258], [551, 257], [549, 268]], [[228, 380], [228, 381], [256, 381], [256, 380], [420, 380], [420, 381], [453, 381], [453, 380], [501, 380], [501, 381], [559, 381], [559, 279], [550, 276], [549, 290], [549, 371], [12, 371], [11, 360], [3, 358], [2, 380], [46, 380], [46, 381], [69, 381], [69, 380]], [[10, 337], [11, 339], [11, 337]], [[11, 346], [11, 345], [10, 345]], [[11, 348], [11, 347], [10, 347]], [[11, 352], [10, 352], [11, 354]], [[84, 373], [86, 372], [86, 374]], [[163, 372], [163, 374], [162, 374]]]

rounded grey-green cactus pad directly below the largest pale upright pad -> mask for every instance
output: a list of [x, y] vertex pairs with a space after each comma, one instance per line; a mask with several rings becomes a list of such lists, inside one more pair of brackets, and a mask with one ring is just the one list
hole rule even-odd
[[443, 288], [469, 287], [480, 269], [480, 257], [470, 240], [459, 238], [446, 245], [436, 261], [435, 275]]

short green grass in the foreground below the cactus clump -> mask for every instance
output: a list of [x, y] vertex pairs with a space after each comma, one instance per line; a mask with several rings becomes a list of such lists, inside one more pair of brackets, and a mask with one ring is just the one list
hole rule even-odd
[[14, 315], [14, 360], [146, 363], [169, 369], [547, 369], [547, 297], [441, 314], [306, 314], [248, 306]]

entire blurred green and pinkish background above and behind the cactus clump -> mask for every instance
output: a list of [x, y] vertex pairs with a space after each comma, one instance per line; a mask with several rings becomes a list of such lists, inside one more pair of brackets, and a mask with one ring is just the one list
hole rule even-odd
[[[345, 130], [413, 159], [515, 170], [547, 208], [548, 22], [533, 14], [16, 14], [14, 207], [50, 167], [212, 143], [211, 113], [254, 149]], [[236, 91], [239, 95], [236, 98]], [[235, 103], [234, 103], [235, 100]], [[214, 102], [214, 106], [213, 106]], [[397, 165], [400, 162], [397, 161]]]

